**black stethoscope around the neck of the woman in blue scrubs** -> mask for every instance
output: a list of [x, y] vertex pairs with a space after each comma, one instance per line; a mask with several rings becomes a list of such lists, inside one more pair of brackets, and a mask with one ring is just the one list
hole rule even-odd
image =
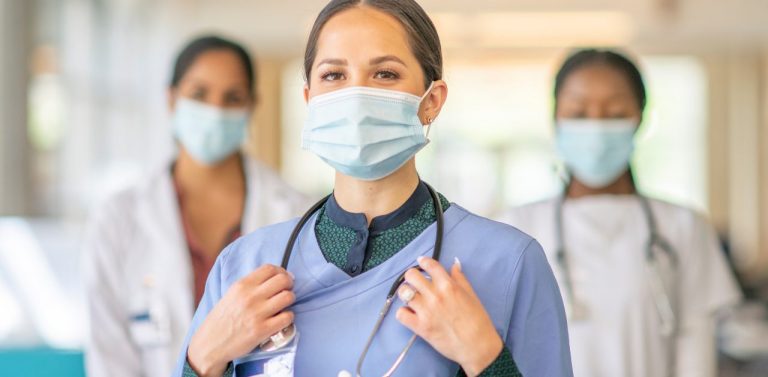
[[[435, 207], [435, 216], [437, 217], [437, 224], [436, 224], [437, 229], [435, 233], [435, 245], [434, 245], [434, 248], [432, 249], [432, 259], [439, 260], [440, 252], [442, 251], [442, 244], [443, 244], [443, 206], [440, 203], [440, 197], [437, 195], [437, 192], [435, 191], [435, 189], [433, 189], [432, 186], [426, 183], [424, 184], [427, 186], [427, 189], [429, 190], [429, 194], [432, 196], [432, 201]], [[282, 260], [282, 263], [280, 264], [280, 266], [283, 269], [288, 268], [288, 262], [291, 258], [291, 253], [293, 252], [293, 247], [296, 243], [296, 239], [298, 238], [299, 233], [301, 233], [301, 229], [304, 227], [304, 225], [306, 225], [306, 223], [309, 221], [312, 215], [315, 212], [317, 212], [323, 205], [325, 205], [325, 202], [328, 201], [328, 198], [330, 198], [331, 195], [328, 195], [325, 198], [321, 199], [319, 202], [315, 203], [315, 205], [313, 205], [312, 208], [310, 208], [301, 217], [299, 222], [293, 228], [293, 231], [291, 232], [291, 236], [288, 239], [288, 243], [286, 243], [285, 245], [285, 251], [283, 252], [283, 260]], [[421, 268], [418, 266], [414, 266], [413, 268], [421, 270]], [[384, 301], [384, 306], [379, 311], [379, 316], [378, 316], [378, 319], [376, 320], [376, 324], [374, 325], [373, 330], [371, 331], [371, 334], [368, 336], [368, 341], [365, 343], [363, 352], [360, 354], [360, 357], [357, 359], [355, 376], [359, 377], [361, 375], [360, 370], [363, 367], [365, 356], [368, 354], [368, 350], [371, 348], [371, 344], [373, 343], [373, 338], [376, 336], [376, 333], [381, 328], [381, 325], [384, 322], [384, 318], [389, 312], [389, 309], [392, 307], [392, 303], [395, 300], [395, 295], [397, 294], [397, 290], [398, 288], [400, 288], [400, 285], [402, 285], [403, 282], [405, 281], [405, 273], [408, 270], [409, 269], [406, 269], [405, 271], [403, 271], [398, 276], [398, 278], [395, 279], [395, 282], [392, 284], [392, 287], [389, 289], [389, 293], [387, 293], [386, 300]], [[294, 324], [291, 324], [290, 326], [277, 332], [275, 335], [272, 335], [269, 339], [261, 343], [261, 345], [259, 345], [259, 348], [265, 352], [274, 351], [290, 344], [290, 342], [295, 338], [295, 336], [296, 336], [296, 326]], [[395, 359], [395, 362], [392, 364], [389, 370], [387, 370], [386, 373], [384, 373], [385, 377], [391, 376], [395, 372], [397, 367], [399, 367], [400, 364], [402, 364], [403, 359], [405, 359], [405, 355], [411, 349], [411, 346], [413, 346], [415, 341], [416, 341], [416, 334], [413, 334], [411, 338], [408, 340], [408, 343], [406, 343], [405, 348], [403, 348], [403, 350], [397, 356], [397, 359]], [[342, 374], [340, 374], [340, 376], [341, 375]]]

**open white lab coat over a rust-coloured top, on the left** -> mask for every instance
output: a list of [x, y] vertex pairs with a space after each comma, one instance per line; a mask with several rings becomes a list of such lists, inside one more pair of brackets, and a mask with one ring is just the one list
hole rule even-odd
[[[243, 234], [311, 206], [273, 171], [244, 161]], [[96, 212], [84, 261], [89, 376], [169, 376], [195, 303], [189, 249], [168, 166]]]

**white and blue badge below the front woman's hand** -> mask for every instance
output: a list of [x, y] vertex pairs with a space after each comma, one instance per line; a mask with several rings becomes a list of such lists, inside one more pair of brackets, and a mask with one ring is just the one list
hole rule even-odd
[[293, 366], [296, 360], [296, 349], [299, 344], [299, 332], [295, 326], [289, 326], [271, 337], [290, 338], [280, 347], [271, 347], [268, 339], [253, 352], [235, 360], [235, 375], [237, 377], [293, 377]]

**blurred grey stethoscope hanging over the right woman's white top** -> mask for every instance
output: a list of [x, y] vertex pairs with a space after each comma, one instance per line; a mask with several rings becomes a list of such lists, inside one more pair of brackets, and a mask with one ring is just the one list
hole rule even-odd
[[[567, 192], [567, 190], [566, 190]], [[672, 336], [676, 331], [677, 319], [675, 308], [672, 303], [672, 295], [667, 290], [661, 274], [661, 267], [655, 250], [660, 249], [669, 259], [673, 269], [677, 269], [678, 261], [674, 248], [662, 237], [657, 230], [656, 218], [651, 209], [648, 198], [636, 194], [635, 197], [643, 210], [646, 224], [648, 226], [648, 239], [645, 243], [645, 268], [649, 276], [651, 285], [651, 295], [659, 314], [661, 324], [661, 334], [663, 336]], [[565, 195], [561, 196], [555, 206], [555, 236], [557, 242], [557, 264], [562, 272], [562, 285], [565, 288], [565, 294], [570, 303], [570, 316], [574, 321], [586, 319], [587, 309], [584, 307], [575, 295], [573, 280], [568, 265], [567, 247], [565, 245], [565, 231], [563, 224], [563, 206], [565, 204]]]

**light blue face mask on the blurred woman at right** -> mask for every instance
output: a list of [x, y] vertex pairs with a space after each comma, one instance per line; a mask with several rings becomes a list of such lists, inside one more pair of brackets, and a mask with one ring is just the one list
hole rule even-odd
[[602, 188], [629, 169], [636, 129], [634, 119], [559, 119], [557, 149], [576, 179]]

